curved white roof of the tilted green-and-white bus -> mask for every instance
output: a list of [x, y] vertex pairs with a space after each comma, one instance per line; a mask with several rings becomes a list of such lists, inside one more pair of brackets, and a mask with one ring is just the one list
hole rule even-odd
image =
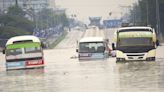
[[24, 35], [24, 36], [16, 36], [16, 37], [10, 38], [7, 41], [6, 45], [13, 44], [14, 42], [29, 41], [29, 40], [32, 40], [33, 42], [39, 42], [40, 43], [40, 40], [38, 37], [33, 36], [33, 35]]

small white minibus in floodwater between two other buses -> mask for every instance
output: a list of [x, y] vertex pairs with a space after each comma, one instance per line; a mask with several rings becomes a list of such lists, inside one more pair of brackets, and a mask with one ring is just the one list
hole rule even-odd
[[103, 37], [84, 37], [78, 42], [79, 60], [105, 59], [109, 57], [108, 42]]

